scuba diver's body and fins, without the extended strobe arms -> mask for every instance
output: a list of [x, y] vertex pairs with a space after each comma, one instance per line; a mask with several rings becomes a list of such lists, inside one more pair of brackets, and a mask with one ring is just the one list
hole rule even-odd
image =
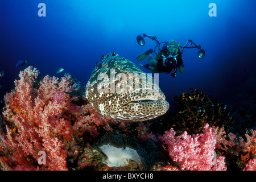
[[148, 56], [148, 64], [139, 64], [141, 67], [151, 70], [153, 73], [170, 73], [174, 70], [174, 72], [171, 73], [172, 77], [176, 77], [177, 68], [179, 68], [180, 73], [184, 72], [181, 51], [179, 44], [177, 44], [175, 40], [170, 40], [170, 42], [164, 44], [162, 50], [160, 50], [154, 58], [152, 52], [153, 49], [149, 49], [137, 57], [138, 61], [142, 61]]

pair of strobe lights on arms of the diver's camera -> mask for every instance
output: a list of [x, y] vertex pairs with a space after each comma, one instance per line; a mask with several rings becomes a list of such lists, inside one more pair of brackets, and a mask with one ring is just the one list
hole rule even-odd
[[[161, 50], [160, 44], [168, 43], [168, 42], [161, 42], [161, 43], [159, 43], [159, 41], [156, 40], [156, 36], [148, 36], [146, 34], [139, 34], [137, 36], [137, 43], [139, 44], [139, 46], [144, 46], [145, 45], [145, 43], [146, 43], [145, 40], [144, 40], [145, 37], [150, 38], [152, 40], [155, 40], [156, 47], [158, 47], [159, 51]], [[188, 43], [191, 43], [191, 45], [193, 44], [193, 47], [188, 47]], [[156, 47], [155, 47], [155, 49], [156, 49]], [[205, 50], [202, 49], [200, 45], [197, 46], [192, 40], [188, 40], [187, 43], [184, 44], [184, 46], [178, 46], [178, 47], [181, 47], [181, 50], [180, 50], [181, 53], [183, 53], [184, 48], [197, 48], [197, 49], [199, 49], [199, 52], [197, 53], [197, 57], [199, 59], [203, 59], [204, 56], [205, 56]], [[155, 49], [154, 49], [154, 52], [155, 52]], [[155, 52], [155, 54], [157, 55], [158, 53]]]

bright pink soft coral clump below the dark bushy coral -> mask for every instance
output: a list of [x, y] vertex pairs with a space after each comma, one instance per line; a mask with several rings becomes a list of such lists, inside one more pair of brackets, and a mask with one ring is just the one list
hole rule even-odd
[[216, 139], [212, 128], [204, 126], [204, 133], [175, 136], [174, 129], [166, 131], [161, 140], [168, 146], [170, 158], [180, 164], [182, 170], [226, 170], [224, 157], [216, 156]]

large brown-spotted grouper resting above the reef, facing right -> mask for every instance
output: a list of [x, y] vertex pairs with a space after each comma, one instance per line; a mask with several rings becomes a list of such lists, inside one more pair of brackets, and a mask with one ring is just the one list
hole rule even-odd
[[[142, 84], [142, 79], [139, 80], [141, 83], [139, 88], [135, 88], [135, 84], [129, 84], [128, 78], [131, 74], [141, 75], [142, 73], [144, 72], [130, 60], [117, 53], [110, 53], [102, 57], [100, 63], [94, 66], [92, 75], [86, 84], [86, 98], [98, 113], [119, 121], [146, 121], [163, 115], [169, 109], [169, 104], [160, 88], [154, 84], [153, 79], [151, 79], [152, 85], [158, 92], [151, 92], [151, 89]], [[102, 74], [108, 76], [105, 77], [109, 82], [108, 86], [105, 85], [108, 92], [100, 91], [102, 80], [98, 77]], [[113, 75], [116, 76], [114, 79]], [[144, 73], [144, 75], [147, 74]], [[127, 79], [123, 79], [123, 77]], [[150, 80], [150, 76], [147, 75], [147, 78]], [[114, 90], [115, 92], [113, 92], [113, 88], [125, 88], [125, 86], [118, 87], [121, 80], [123, 80], [122, 83], [126, 82], [127, 91], [117, 92]], [[132, 90], [133, 92], [131, 92]]]

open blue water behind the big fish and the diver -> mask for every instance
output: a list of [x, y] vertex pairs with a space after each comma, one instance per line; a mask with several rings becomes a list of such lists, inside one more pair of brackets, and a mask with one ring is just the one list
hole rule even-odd
[[[216, 17], [208, 15], [212, 2]], [[39, 3], [46, 4], [46, 17], [38, 16]], [[1, 1], [0, 71], [5, 76], [0, 77], [0, 99], [28, 65], [39, 69], [39, 79], [70, 73], [83, 86], [102, 54], [114, 51], [138, 65], [136, 57], [156, 46], [147, 38], [145, 46], [138, 46], [136, 37], [144, 33], [181, 45], [191, 39], [206, 51], [200, 60], [197, 49], [185, 49], [184, 73], [159, 75], [167, 101], [198, 88], [238, 109], [256, 92], [255, 8], [255, 1], [238, 0]], [[15, 68], [18, 60], [28, 64]], [[61, 67], [64, 71], [56, 74]]]

